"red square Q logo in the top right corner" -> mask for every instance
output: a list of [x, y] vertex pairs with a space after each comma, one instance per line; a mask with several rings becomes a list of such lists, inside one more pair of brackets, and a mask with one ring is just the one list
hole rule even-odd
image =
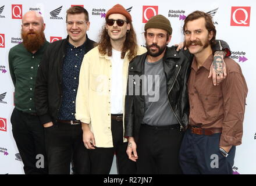
[[232, 6], [230, 26], [250, 26], [250, 6]]

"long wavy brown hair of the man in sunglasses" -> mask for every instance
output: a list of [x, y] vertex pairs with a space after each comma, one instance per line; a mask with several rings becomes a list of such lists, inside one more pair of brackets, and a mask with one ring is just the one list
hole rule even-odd
[[[128, 53], [128, 59], [131, 60], [137, 55], [137, 38], [136, 33], [133, 28], [133, 24], [130, 24], [130, 31], [126, 33], [125, 42], [123, 43], [122, 53], [121, 53], [121, 59], [125, 58], [125, 53], [129, 51]], [[102, 26], [101, 34], [99, 34], [99, 43], [98, 43], [98, 49], [99, 53], [101, 55], [107, 54], [108, 56], [112, 56], [112, 46], [110, 42], [110, 37], [108, 35], [108, 31], [106, 30], [106, 26]]]

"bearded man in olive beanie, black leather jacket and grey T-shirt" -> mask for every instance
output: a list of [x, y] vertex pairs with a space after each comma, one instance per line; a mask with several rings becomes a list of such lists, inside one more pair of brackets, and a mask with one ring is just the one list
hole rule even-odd
[[166, 17], [151, 17], [145, 24], [147, 53], [129, 64], [125, 136], [129, 137], [127, 155], [137, 161], [138, 174], [182, 173], [178, 157], [182, 128], [188, 124], [186, 83], [193, 55], [166, 47], [171, 34]]

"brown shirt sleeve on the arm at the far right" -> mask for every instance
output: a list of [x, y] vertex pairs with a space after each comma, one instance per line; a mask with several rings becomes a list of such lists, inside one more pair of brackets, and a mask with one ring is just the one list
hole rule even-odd
[[243, 74], [232, 72], [222, 84], [224, 119], [220, 146], [240, 145], [246, 105], [247, 85]]

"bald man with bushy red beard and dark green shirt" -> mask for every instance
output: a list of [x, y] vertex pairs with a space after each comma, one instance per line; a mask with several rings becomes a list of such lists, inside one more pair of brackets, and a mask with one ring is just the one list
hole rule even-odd
[[10, 121], [25, 174], [47, 174], [44, 128], [34, 106], [37, 69], [49, 44], [45, 40], [44, 30], [45, 23], [39, 13], [25, 13], [22, 19], [23, 42], [9, 51], [10, 76], [15, 87], [15, 108]]

